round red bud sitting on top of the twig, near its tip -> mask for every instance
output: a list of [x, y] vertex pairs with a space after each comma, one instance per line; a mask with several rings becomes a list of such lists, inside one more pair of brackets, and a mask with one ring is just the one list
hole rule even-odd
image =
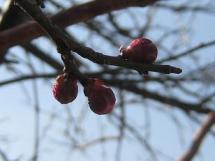
[[127, 48], [121, 47], [120, 52], [124, 59], [147, 64], [154, 63], [158, 53], [155, 44], [143, 37], [133, 40]]

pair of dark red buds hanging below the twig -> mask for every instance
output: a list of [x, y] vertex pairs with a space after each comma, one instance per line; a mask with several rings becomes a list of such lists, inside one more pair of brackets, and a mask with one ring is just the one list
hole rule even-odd
[[[61, 74], [56, 78], [52, 88], [53, 95], [57, 101], [67, 104], [75, 100], [78, 94], [77, 79], [70, 75]], [[88, 97], [90, 109], [96, 114], [108, 114], [115, 105], [116, 98], [110, 87], [107, 87], [98, 79], [88, 79], [84, 87], [84, 94]]]

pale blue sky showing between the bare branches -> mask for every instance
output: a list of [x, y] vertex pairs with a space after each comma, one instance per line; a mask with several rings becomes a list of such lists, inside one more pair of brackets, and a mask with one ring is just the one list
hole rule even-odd
[[[3, 1], [0, 1], [2, 3]], [[166, 2], [168, 3], [168, 2]], [[174, 3], [174, 2], [172, 2]], [[144, 12], [144, 9], [138, 9], [137, 12]], [[168, 15], [168, 16], [167, 16]], [[214, 16], [214, 15], [213, 15]], [[214, 26], [215, 21], [214, 17], [201, 14], [199, 15], [191, 24], [189, 24], [189, 16], [187, 18], [183, 16], [171, 16], [171, 12], [159, 12], [156, 14], [156, 22], [157, 23], [166, 23], [166, 26], [172, 26], [174, 24], [179, 24], [181, 26], [189, 26], [192, 25], [194, 28], [192, 33], [189, 33], [187, 36], [192, 37], [192, 41], [188, 44], [190, 46], [197, 45], [201, 42], [207, 42], [213, 40], [215, 37]], [[122, 17], [120, 19], [123, 22], [128, 22], [126, 17]], [[126, 24], [125, 23], [125, 24]], [[79, 26], [73, 26], [69, 28], [73, 30], [75, 35], [79, 35], [80, 37], [84, 37], [82, 35], [82, 31]], [[150, 38], [156, 40], [156, 32], [152, 32], [148, 35]], [[56, 58], [59, 58], [55, 51], [55, 47], [48, 42], [44, 42], [43, 38], [34, 40], [35, 42], [41, 43], [41, 46], [47, 47], [47, 51], [51, 52], [53, 55], [56, 55]], [[95, 38], [95, 41], [102, 41], [98, 38]], [[169, 40], [171, 43], [171, 40]], [[102, 42], [101, 42], [102, 43]], [[126, 42], [127, 43], [127, 42]], [[168, 43], [168, 42], [167, 42]], [[45, 44], [45, 45], [44, 45]], [[105, 43], [104, 43], [105, 44]], [[201, 57], [199, 63], [204, 64], [208, 62], [208, 59], [213, 61], [214, 57], [214, 47], [208, 48], [206, 50], [200, 51], [198, 56]], [[97, 50], [104, 51], [107, 53], [116, 53], [117, 49], [110, 48], [110, 46], [104, 45], [101, 48], [101, 45], [98, 45]], [[115, 51], [115, 52], [114, 52]], [[26, 60], [25, 54], [19, 47], [14, 47], [11, 50], [12, 53], [18, 55], [18, 57], [22, 58], [23, 61]], [[206, 54], [205, 54], [206, 53]], [[161, 57], [162, 54], [160, 53]], [[206, 58], [207, 57], [207, 58]], [[49, 67], [42, 66], [42, 64], [33, 59], [33, 64], [38, 72], [50, 72], [53, 71]], [[183, 68], [186, 72], [189, 65], [195, 66], [191, 61], [183, 61], [173, 62]], [[41, 68], [38, 68], [41, 66]], [[19, 64], [18, 69], [22, 70], [25, 73], [30, 73], [30, 70], [26, 68], [25, 65]], [[0, 68], [1, 78], [0, 81], [6, 80], [8, 78], [13, 78], [14, 74], [9, 73], [5, 66], [1, 66]], [[79, 86], [79, 96], [78, 98], [68, 106], [60, 105], [56, 100], [54, 100], [51, 93], [51, 84], [53, 79], [51, 79], [48, 83], [44, 80], [36, 80], [37, 88], [39, 91], [39, 106], [43, 111], [41, 114], [41, 133], [43, 136], [43, 131], [46, 126], [51, 126], [50, 130], [45, 133], [45, 139], [42, 141], [40, 145], [40, 159], [41, 160], [102, 160], [103, 156], [107, 156], [107, 161], [114, 160], [115, 156], [115, 148], [116, 143], [108, 142], [105, 144], [105, 149], [108, 151], [105, 154], [102, 151], [101, 145], [96, 145], [89, 148], [85, 154], [78, 151], [70, 151], [69, 150], [69, 141], [65, 139], [64, 131], [66, 130], [65, 124], [69, 123], [71, 126], [75, 124], [80, 125], [82, 130], [85, 131], [83, 134], [80, 132], [78, 135], [74, 133], [74, 130], [71, 130], [71, 134], [73, 137], [79, 139], [83, 137], [82, 140], [88, 141], [92, 138], [96, 138], [103, 134], [108, 135], [117, 135], [116, 128], [109, 123], [109, 116], [98, 116], [92, 113], [87, 105], [87, 99], [83, 95], [82, 87]], [[207, 89], [206, 89], [207, 90]], [[21, 157], [22, 160], [28, 160], [33, 153], [34, 147], [34, 111], [33, 106], [35, 105], [34, 94], [33, 94], [33, 83], [31, 81], [26, 81], [21, 84], [13, 84], [8, 86], [2, 86], [0, 88], [0, 136], [5, 136], [9, 142], [4, 143], [0, 138], [0, 148], [4, 151], [8, 152], [10, 159], [14, 159], [16, 157]], [[131, 95], [130, 97], [136, 97]], [[180, 156], [190, 145], [190, 141], [193, 133], [196, 131], [198, 126], [192, 121], [190, 121], [184, 113], [180, 110], [175, 109], [173, 114], [177, 116], [180, 120], [180, 125], [182, 127], [175, 126], [171, 117], [167, 115], [167, 112], [170, 110], [166, 108], [166, 112], [161, 112], [156, 108], [150, 108], [151, 106], [159, 107], [160, 104], [156, 102], [151, 102], [149, 100], [145, 100], [146, 104], [135, 104], [133, 106], [129, 106], [126, 108], [126, 113], [129, 118], [129, 123], [135, 124], [136, 127], [143, 128], [142, 125], [146, 122], [146, 118], [143, 115], [144, 110], [148, 110], [149, 118], [151, 118], [151, 135], [148, 138], [149, 142], [156, 146], [156, 149], [161, 149], [165, 154], [168, 154], [174, 160], [178, 156]], [[69, 120], [68, 110], [72, 115], [74, 120]], [[118, 110], [118, 109], [116, 109]], [[50, 113], [57, 115], [54, 120], [51, 121], [50, 124]], [[85, 117], [82, 119], [82, 115]], [[101, 128], [102, 127], [102, 128]], [[183, 137], [180, 137], [180, 129], [183, 128], [184, 132], [182, 134]], [[144, 130], [142, 131], [144, 134]], [[82, 136], [83, 135], [83, 136]], [[122, 160], [147, 160], [149, 154], [146, 153], [146, 150], [143, 149], [140, 145], [136, 144], [138, 141], [134, 139], [131, 134], [128, 134], [127, 141], [123, 142], [123, 156]], [[200, 158], [195, 159], [194, 161], [204, 160], [211, 161], [211, 158], [215, 158], [215, 150], [214, 150], [215, 140], [211, 136], [208, 136], [201, 148]], [[203, 159], [202, 159], [203, 158]], [[105, 160], [105, 159], [103, 159]], [[161, 158], [161, 161], [166, 160], [166, 158]], [[1, 159], [0, 159], [1, 161]]]

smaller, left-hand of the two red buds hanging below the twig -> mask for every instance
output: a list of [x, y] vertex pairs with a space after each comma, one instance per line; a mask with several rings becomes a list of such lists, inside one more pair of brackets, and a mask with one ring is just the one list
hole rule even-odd
[[72, 76], [67, 78], [66, 74], [59, 75], [53, 85], [52, 93], [62, 104], [72, 102], [78, 94], [77, 79]]

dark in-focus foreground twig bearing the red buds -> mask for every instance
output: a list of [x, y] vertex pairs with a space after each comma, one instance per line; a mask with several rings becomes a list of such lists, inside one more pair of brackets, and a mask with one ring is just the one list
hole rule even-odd
[[[97, 64], [121, 66], [142, 73], [146, 71], [153, 71], [165, 74], [179, 74], [182, 72], [180, 68], [176, 68], [170, 65], [146, 65], [134, 63], [130, 61], [125, 61], [119, 56], [108, 56], [96, 52], [91, 48], [78, 44], [76, 41], [68, 37], [64, 32], [61, 31], [60, 28], [55, 26], [48, 18], [46, 18], [45, 15], [43, 15], [43, 13], [41, 12], [41, 10], [37, 8], [37, 6], [32, 5], [28, 1], [16, 1], [46, 30], [46, 32], [55, 41], [59, 53], [61, 53], [61, 55], [65, 57], [69, 55], [69, 50], [72, 50], [78, 53], [83, 58], [87, 58]], [[85, 84], [84, 82], [86, 82], [86, 78], [84, 78], [78, 70], [75, 70], [75, 67], [72, 67], [72, 69], [74, 70], [74, 73], [76, 73], [75, 75], [79, 78], [79, 80], [83, 82], [82, 84]]]

